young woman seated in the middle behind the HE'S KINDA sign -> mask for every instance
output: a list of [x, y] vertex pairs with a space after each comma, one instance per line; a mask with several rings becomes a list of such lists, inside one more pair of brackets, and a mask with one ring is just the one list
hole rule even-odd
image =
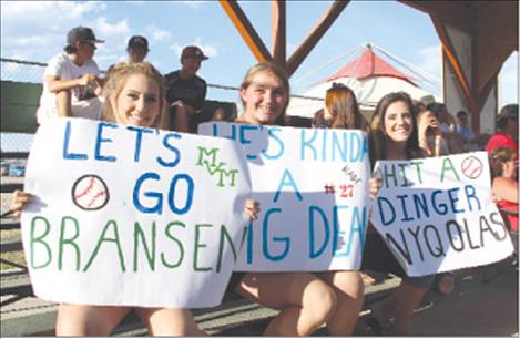
[[[249, 69], [239, 95], [244, 114], [236, 122], [285, 125], [289, 83], [278, 65], [264, 62]], [[239, 278], [237, 294], [281, 310], [265, 329], [267, 336], [309, 336], [323, 323], [333, 336], [350, 335], [363, 304], [357, 271], [247, 273]]]

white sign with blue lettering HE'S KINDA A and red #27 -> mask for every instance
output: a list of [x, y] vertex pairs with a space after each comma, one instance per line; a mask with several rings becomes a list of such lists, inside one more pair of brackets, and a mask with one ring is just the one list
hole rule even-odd
[[359, 267], [368, 223], [365, 133], [224, 122], [201, 124], [198, 132], [244, 145], [261, 203], [235, 270]]

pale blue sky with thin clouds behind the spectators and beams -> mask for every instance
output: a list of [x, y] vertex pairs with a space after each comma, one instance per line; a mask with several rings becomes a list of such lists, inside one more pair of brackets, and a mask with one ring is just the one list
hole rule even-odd
[[[271, 1], [238, 1], [271, 50]], [[330, 1], [287, 1], [287, 56], [328, 10]], [[147, 60], [162, 72], [180, 68], [184, 45], [197, 44], [210, 60], [198, 72], [207, 83], [238, 86], [252, 52], [217, 1], [1, 1], [1, 58], [48, 62], [62, 51], [67, 32], [91, 27], [99, 39], [100, 69], [125, 56], [128, 39], [149, 39]], [[351, 51], [370, 42], [437, 79], [440, 94], [440, 41], [429, 17], [396, 1], [351, 1], [290, 79], [292, 92], [345, 65]], [[499, 75], [499, 106], [518, 102], [518, 52]], [[208, 89], [207, 99], [236, 102], [236, 91]]]

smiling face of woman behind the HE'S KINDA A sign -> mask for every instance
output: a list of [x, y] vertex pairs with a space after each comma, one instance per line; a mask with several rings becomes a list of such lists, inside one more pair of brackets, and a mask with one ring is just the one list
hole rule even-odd
[[241, 89], [244, 120], [252, 124], [274, 124], [287, 106], [287, 90], [275, 74], [257, 72], [249, 85]]

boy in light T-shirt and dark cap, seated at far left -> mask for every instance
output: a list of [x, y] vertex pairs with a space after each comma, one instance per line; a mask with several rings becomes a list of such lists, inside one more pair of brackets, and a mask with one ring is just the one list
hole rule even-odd
[[37, 111], [38, 123], [55, 116], [99, 119], [102, 82], [92, 56], [95, 52], [94, 32], [77, 27], [67, 34], [64, 52], [54, 55], [43, 73], [43, 91]]

